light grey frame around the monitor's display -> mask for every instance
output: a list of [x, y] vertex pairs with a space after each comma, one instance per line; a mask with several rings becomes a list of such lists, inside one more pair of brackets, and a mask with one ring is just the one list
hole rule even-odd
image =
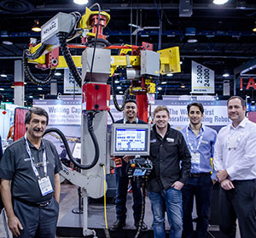
[[[145, 150], [143, 151], [131, 151], [131, 150], [122, 150], [116, 151], [116, 132], [117, 129], [142, 129], [146, 130], [146, 143]], [[112, 125], [112, 137], [111, 137], [111, 156], [149, 156], [149, 147], [150, 147], [150, 125], [149, 124], [124, 124], [124, 123], [116, 123]]]

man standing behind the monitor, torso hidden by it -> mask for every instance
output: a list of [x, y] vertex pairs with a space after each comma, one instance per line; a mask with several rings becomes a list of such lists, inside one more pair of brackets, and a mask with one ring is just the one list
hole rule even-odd
[[[115, 123], [127, 123], [127, 124], [146, 124], [142, 120], [137, 118], [137, 103], [135, 100], [129, 99], [125, 102], [125, 118]], [[111, 227], [112, 230], [119, 230], [125, 226], [126, 219], [126, 196], [129, 184], [129, 178], [127, 170], [129, 166], [129, 160], [133, 156], [124, 156], [122, 158], [122, 167], [115, 168], [116, 175], [116, 217], [117, 220]], [[142, 212], [142, 193], [140, 188], [137, 186], [137, 182], [131, 179], [131, 190], [133, 195], [133, 217], [134, 225], [138, 227]], [[147, 225], [143, 223], [142, 230], [146, 230]]]

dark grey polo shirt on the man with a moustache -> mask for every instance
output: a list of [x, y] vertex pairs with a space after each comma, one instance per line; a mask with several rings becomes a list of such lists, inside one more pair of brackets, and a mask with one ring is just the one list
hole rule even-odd
[[[44, 177], [43, 152], [46, 151], [47, 175], [54, 189], [55, 173], [61, 170], [61, 161], [55, 149], [55, 145], [44, 139], [39, 149], [29, 141], [32, 157], [38, 169], [39, 176]], [[45, 146], [45, 148], [44, 148]], [[13, 197], [19, 197], [24, 201], [44, 202], [49, 201], [53, 193], [42, 195], [38, 185], [38, 178], [32, 170], [31, 159], [26, 151], [24, 137], [18, 139], [4, 151], [0, 161], [0, 178], [11, 180], [11, 192]]]

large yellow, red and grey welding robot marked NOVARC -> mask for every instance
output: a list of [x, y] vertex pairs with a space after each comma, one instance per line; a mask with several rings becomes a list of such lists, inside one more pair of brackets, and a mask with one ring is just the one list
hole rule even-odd
[[[98, 10], [92, 11], [92, 8]], [[180, 72], [177, 47], [154, 52], [153, 45], [147, 42], [143, 42], [142, 46], [110, 45], [103, 35], [103, 28], [108, 25], [109, 20], [110, 15], [102, 11], [98, 3], [86, 8], [83, 15], [79, 12], [56, 14], [41, 27], [41, 42], [37, 44], [35, 39], [31, 39], [22, 61], [26, 77], [38, 85], [48, 84], [56, 69], [68, 68], [82, 88], [81, 163], [73, 158], [60, 130], [49, 128], [45, 133], [55, 132], [61, 136], [67, 155], [82, 171], [78, 173], [63, 166], [61, 176], [83, 191], [84, 236], [96, 235], [94, 230], [88, 229], [88, 197], [100, 198], [107, 191], [105, 178], [106, 173], [110, 173], [107, 123], [111, 90], [113, 103], [118, 111], [123, 111], [129, 94], [136, 95], [138, 116], [148, 122], [148, 94], [155, 93], [155, 82], [159, 82], [160, 75]], [[75, 37], [81, 38], [81, 44], [67, 44]], [[84, 51], [82, 55], [73, 56], [70, 48], [82, 48]], [[119, 54], [111, 55], [112, 49], [118, 49]], [[59, 54], [60, 50], [62, 55]], [[31, 70], [32, 64], [39, 69], [49, 69], [49, 75], [44, 79], [35, 77]], [[82, 67], [82, 76], [79, 75], [78, 67]], [[131, 87], [125, 91], [123, 104], [120, 106], [116, 99], [113, 76], [116, 71], [124, 68]], [[113, 78], [112, 88], [107, 83], [109, 77]], [[150, 125], [147, 127], [149, 133]], [[130, 176], [144, 178], [152, 169], [150, 162], [139, 156], [131, 165]]]

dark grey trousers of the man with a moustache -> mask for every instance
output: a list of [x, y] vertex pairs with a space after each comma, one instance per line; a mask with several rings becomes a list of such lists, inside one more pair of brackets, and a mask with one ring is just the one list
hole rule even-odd
[[46, 207], [32, 207], [14, 200], [14, 211], [23, 226], [18, 237], [55, 238], [59, 214], [59, 204], [55, 198]]

